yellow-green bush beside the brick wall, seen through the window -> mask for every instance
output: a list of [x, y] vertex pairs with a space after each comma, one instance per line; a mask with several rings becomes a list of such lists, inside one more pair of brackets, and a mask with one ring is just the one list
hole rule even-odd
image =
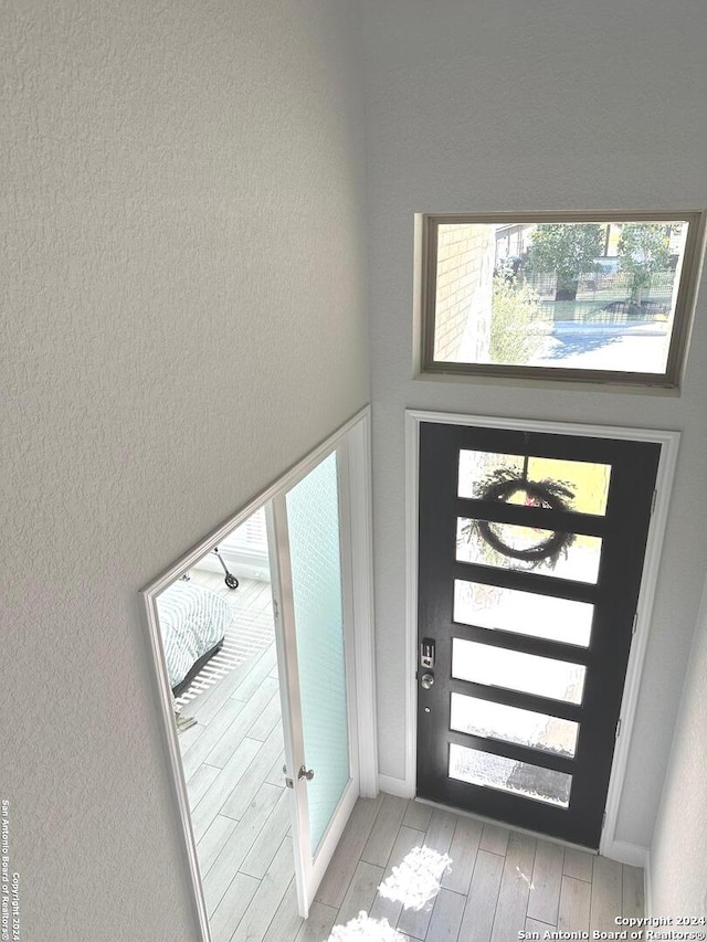
[[542, 306], [528, 286], [515, 277], [494, 277], [489, 356], [492, 363], [528, 363], [544, 341]]

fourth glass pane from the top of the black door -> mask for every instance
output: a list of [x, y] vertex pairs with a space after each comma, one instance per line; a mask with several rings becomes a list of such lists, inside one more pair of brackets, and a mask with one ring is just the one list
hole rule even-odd
[[582, 664], [452, 638], [452, 677], [456, 680], [581, 703], [585, 671]]

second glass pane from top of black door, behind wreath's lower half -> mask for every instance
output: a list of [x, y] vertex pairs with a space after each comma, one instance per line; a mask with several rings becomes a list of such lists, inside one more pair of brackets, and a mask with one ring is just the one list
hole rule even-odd
[[570, 534], [570, 546], [560, 549], [555, 557], [537, 559], [542, 555], [542, 547], [553, 540], [551, 530], [536, 527], [520, 527], [517, 523], [488, 522], [490, 534], [514, 553], [532, 557], [527, 561], [507, 555], [492, 546], [479, 532], [484, 521], [458, 517], [456, 523], [456, 559], [475, 565], [489, 565], [519, 571], [531, 570], [538, 575], [553, 575], [557, 579], [571, 579], [574, 582], [595, 583], [601, 560], [601, 537]]

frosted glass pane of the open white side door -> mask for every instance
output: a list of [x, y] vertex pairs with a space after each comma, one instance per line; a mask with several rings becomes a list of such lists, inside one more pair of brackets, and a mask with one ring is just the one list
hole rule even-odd
[[[349, 781], [336, 455], [286, 497], [312, 850]], [[294, 770], [296, 771], [296, 770]]]

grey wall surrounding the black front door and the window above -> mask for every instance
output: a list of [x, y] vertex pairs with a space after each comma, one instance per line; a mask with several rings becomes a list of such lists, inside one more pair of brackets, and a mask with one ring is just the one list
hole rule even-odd
[[707, 568], [707, 286], [679, 398], [412, 381], [413, 213], [704, 207], [707, 4], [363, 7], [381, 772], [404, 774], [404, 408], [682, 430], [616, 833], [647, 847]]

